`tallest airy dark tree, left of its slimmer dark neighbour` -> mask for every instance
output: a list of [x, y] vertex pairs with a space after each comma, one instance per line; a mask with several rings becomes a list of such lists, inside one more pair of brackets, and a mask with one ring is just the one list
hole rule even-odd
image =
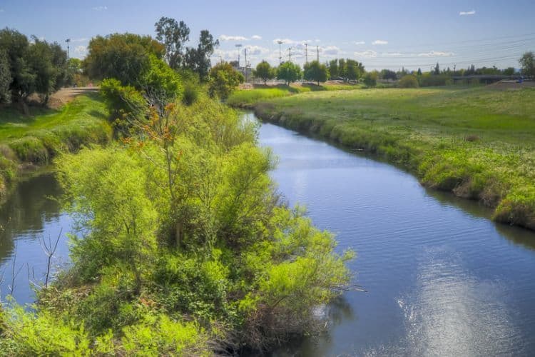
[[163, 41], [165, 46], [165, 61], [172, 69], [179, 69], [184, 64], [185, 43], [190, 39], [190, 29], [184, 21], [164, 16], [154, 26], [156, 39]]

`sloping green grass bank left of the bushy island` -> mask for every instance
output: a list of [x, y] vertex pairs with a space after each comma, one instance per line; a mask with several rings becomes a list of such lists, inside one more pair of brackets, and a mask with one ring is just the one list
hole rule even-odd
[[25, 116], [0, 109], [0, 201], [21, 174], [45, 166], [60, 152], [111, 139], [106, 108], [98, 94], [76, 97], [58, 111], [31, 107]]

